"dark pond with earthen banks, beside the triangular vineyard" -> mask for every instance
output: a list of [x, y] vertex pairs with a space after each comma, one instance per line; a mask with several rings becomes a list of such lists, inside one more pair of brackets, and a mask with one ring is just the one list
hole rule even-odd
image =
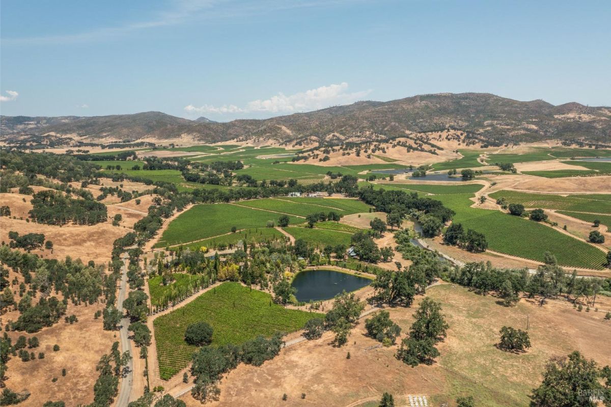
[[305, 303], [330, 299], [342, 291], [351, 292], [371, 284], [370, 279], [340, 273], [334, 270], [306, 270], [298, 273], [293, 279], [293, 287], [298, 301]]

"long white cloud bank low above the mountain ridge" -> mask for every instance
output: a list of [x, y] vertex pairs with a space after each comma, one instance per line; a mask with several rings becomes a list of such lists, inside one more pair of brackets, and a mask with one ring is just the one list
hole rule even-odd
[[321, 86], [316, 89], [298, 92], [293, 95], [285, 95], [282, 92], [265, 100], [253, 100], [247, 103], [246, 107], [239, 108], [236, 105], [212, 106], [203, 105], [199, 108], [193, 105], [185, 107], [185, 111], [190, 113], [249, 113], [249, 112], [269, 112], [269, 113], [295, 113], [312, 111], [328, 108], [334, 105], [349, 105], [357, 100], [362, 100], [371, 90], [360, 90], [359, 92], [347, 92], [348, 84], [331, 84]]

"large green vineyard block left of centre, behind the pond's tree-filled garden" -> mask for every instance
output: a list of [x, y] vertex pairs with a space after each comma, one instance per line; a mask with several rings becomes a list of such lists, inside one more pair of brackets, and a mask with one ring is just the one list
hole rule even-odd
[[[181, 213], [170, 222], [167, 229], [155, 244], [155, 247], [172, 246], [195, 240], [223, 235], [237, 229], [265, 227], [268, 221], [277, 223], [280, 213], [251, 209], [232, 204], [200, 204]], [[291, 223], [303, 222], [304, 219], [290, 216]]]

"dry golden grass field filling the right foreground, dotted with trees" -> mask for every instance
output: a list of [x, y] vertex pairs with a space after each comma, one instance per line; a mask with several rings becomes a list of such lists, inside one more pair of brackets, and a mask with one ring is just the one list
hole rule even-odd
[[[493, 296], [449, 284], [429, 288], [427, 296], [441, 302], [450, 325], [447, 339], [438, 345], [441, 356], [433, 365], [412, 368], [398, 361], [397, 346], [379, 347], [379, 342], [365, 336], [361, 320], [342, 348], [330, 346], [332, 333], [326, 333], [319, 340], [285, 348], [261, 367], [238, 366], [222, 381], [220, 400], [210, 405], [377, 406], [382, 393], [390, 392], [398, 406], [409, 406], [411, 394], [426, 395], [431, 406], [453, 405], [456, 397], [473, 395], [478, 406], [522, 407], [528, 405], [549, 358], [579, 350], [599, 365], [611, 363], [606, 351], [611, 325], [602, 321], [601, 312], [577, 312], [564, 301], [538, 307], [524, 299], [508, 309]], [[418, 297], [411, 308], [387, 309], [403, 328], [401, 338], [421, 300]], [[513, 354], [494, 347], [502, 326], [524, 329], [527, 315], [529, 352]], [[182, 400], [189, 407], [200, 405], [189, 394]], [[367, 400], [376, 403], [365, 404]]]

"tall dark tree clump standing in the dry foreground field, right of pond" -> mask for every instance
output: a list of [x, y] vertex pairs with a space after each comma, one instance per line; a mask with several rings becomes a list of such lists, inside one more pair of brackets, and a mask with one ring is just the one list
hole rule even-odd
[[415, 367], [421, 363], [433, 364], [439, 356], [435, 347], [438, 342], [445, 339], [449, 328], [441, 314], [441, 304], [430, 298], [420, 303], [419, 309], [414, 313], [415, 321], [409, 330], [409, 337], [401, 341], [397, 350], [397, 359]]

